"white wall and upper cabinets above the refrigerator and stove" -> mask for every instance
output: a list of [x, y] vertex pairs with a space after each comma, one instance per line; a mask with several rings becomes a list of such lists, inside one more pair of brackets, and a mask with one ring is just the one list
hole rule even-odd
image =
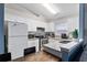
[[24, 9], [20, 11], [15, 9], [6, 8], [4, 20], [26, 23], [29, 26], [29, 31], [36, 31], [37, 26], [45, 28], [45, 30], [47, 31], [47, 23], [43, 17], [35, 17], [30, 11], [25, 11]]

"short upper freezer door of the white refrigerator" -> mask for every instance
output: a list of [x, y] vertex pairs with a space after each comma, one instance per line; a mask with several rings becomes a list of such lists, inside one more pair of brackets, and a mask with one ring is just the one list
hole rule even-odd
[[23, 36], [28, 35], [28, 25], [19, 22], [9, 22], [8, 23], [8, 33], [9, 36]]

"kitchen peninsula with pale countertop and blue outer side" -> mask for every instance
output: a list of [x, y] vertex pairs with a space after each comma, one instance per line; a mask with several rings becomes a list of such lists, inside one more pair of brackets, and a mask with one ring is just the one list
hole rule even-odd
[[74, 56], [80, 51], [83, 40], [74, 40], [69, 43], [61, 43], [59, 41], [44, 44], [44, 51], [61, 57], [62, 61], [73, 61]]

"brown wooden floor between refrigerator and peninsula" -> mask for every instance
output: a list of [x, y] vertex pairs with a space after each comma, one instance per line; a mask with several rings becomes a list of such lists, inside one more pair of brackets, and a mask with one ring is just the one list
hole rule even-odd
[[12, 62], [59, 62], [61, 58], [53, 56], [46, 52], [32, 53], [26, 55], [25, 57], [21, 57], [14, 59]]

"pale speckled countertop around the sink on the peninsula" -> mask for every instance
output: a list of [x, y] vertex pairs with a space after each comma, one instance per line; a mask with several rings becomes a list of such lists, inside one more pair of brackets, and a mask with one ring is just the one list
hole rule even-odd
[[[68, 42], [68, 43], [61, 43], [61, 41], [70, 41], [70, 42]], [[78, 46], [78, 44], [80, 44], [80, 42], [83, 42], [83, 39], [79, 39], [79, 40], [75, 40], [75, 39], [50, 39], [50, 44], [52, 43], [52, 45], [53, 45], [54, 44], [53, 42], [55, 44], [59, 45], [58, 46], [59, 48], [63, 48], [65, 51], [70, 52], [74, 47]], [[50, 44], [47, 44], [47, 46]]]

